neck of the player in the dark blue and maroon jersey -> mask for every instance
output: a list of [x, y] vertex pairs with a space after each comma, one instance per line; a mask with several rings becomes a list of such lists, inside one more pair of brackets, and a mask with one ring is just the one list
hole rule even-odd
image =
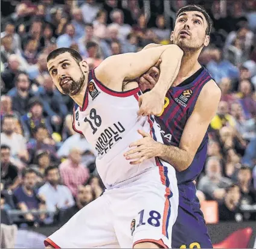
[[200, 52], [200, 50], [196, 52], [185, 52], [181, 61], [181, 68], [179, 69], [178, 76], [173, 82], [173, 86], [181, 84], [185, 78], [190, 77], [201, 68], [201, 65], [198, 62]]

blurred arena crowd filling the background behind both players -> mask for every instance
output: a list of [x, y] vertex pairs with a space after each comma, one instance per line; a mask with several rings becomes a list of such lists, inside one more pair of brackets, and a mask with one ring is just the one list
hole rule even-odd
[[[46, 56], [71, 47], [92, 69], [110, 55], [168, 44], [175, 13], [187, 4], [202, 5], [213, 20], [200, 63], [222, 89], [197, 196], [214, 248], [255, 248], [252, 0], [1, 1], [1, 248], [43, 248], [45, 236], [104, 188], [94, 151], [72, 131], [72, 100], [54, 87]], [[72, 165], [77, 168], [70, 170]], [[58, 190], [52, 194], [54, 181]], [[238, 187], [229, 188], [232, 184]]]

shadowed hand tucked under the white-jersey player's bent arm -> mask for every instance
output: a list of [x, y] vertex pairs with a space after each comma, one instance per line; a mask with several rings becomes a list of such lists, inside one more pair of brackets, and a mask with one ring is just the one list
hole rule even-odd
[[144, 73], [144, 75], [139, 78], [139, 88], [141, 88], [141, 91], [155, 87], [160, 75], [159, 65], [161, 62], [162, 60], [159, 59], [155, 66], [151, 67], [148, 72]]

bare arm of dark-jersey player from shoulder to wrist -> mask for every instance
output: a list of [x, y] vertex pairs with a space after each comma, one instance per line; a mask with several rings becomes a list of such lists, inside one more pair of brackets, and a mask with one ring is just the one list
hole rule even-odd
[[202, 143], [205, 132], [217, 111], [220, 88], [211, 80], [202, 89], [194, 111], [185, 125], [179, 147], [162, 144], [160, 157], [173, 165], [178, 171], [186, 170], [194, 159]]

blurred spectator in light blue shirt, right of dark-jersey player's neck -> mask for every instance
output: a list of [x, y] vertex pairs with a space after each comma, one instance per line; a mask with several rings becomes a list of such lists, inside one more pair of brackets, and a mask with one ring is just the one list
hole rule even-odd
[[217, 84], [219, 84], [223, 78], [238, 78], [237, 67], [228, 60], [223, 60], [223, 53], [218, 48], [213, 50], [212, 60], [206, 65], [206, 69], [209, 70]]

